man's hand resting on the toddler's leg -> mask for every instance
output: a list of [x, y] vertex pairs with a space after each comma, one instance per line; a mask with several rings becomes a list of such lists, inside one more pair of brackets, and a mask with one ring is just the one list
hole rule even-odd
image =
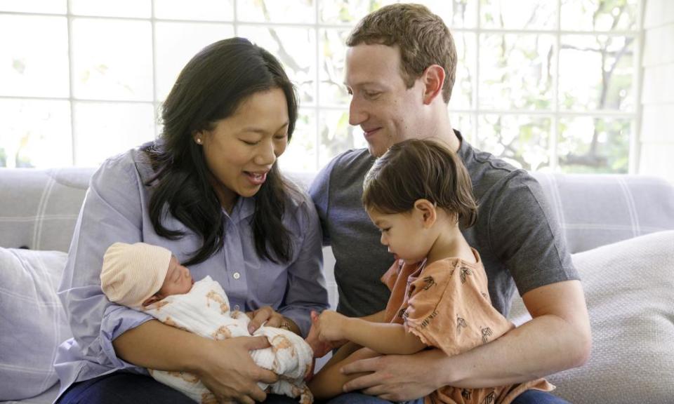
[[[347, 382], [344, 391], [362, 390], [365, 394], [389, 401], [425, 397], [442, 386], [436, 377], [438, 370], [435, 365], [443, 359], [449, 358], [439, 349], [421, 351], [414, 355], [385, 355], [361, 359], [342, 368], [345, 375], [366, 373]], [[443, 371], [448, 368], [444, 367]]]

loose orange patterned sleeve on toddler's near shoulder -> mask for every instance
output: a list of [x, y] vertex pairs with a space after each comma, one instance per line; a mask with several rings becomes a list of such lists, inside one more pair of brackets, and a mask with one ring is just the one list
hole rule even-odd
[[474, 267], [431, 264], [409, 290], [407, 330], [449, 356], [514, 328], [491, 306], [486, 275]]

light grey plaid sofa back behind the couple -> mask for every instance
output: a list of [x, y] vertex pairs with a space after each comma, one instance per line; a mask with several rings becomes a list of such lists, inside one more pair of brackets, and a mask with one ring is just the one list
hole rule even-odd
[[[0, 247], [67, 251], [95, 168], [0, 168]], [[312, 173], [288, 173], [307, 187]], [[674, 229], [674, 187], [658, 177], [534, 173], [571, 253]], [[329, 251], [328, 251], [329, 253]], [[326, 257], [332, 262], [332, 257]]]

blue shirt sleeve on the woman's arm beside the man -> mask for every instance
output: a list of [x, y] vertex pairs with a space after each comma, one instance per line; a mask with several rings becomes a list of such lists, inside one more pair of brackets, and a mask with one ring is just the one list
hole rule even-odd
[[288, 268], [288, 284], [284, 304], [279, 313], [290, 318], [306, 337], [311, 326], [310, 311], [323, 311], [329, 306], [323, 274], [322, 231], [316, 209], [310, 201], [296, 210], [298, 249]]

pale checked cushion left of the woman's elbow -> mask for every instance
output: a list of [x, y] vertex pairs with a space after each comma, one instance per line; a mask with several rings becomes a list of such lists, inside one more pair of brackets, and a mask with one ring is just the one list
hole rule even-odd
[[0, 401], [48, 390], [56, 347], [72, 336], [56, 295], [67, 254], [0, 248]]

